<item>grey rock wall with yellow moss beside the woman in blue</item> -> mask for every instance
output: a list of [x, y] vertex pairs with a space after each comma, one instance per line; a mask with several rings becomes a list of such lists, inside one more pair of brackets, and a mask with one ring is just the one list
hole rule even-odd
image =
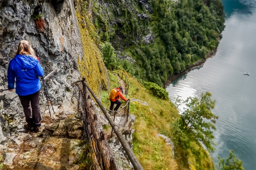
[[[54, 105], [76, 106], [74, 98], [76, 91], [70, 84], [81, 79], [81, 76], [86, 77], [96, 93], [99, 89], [108, 89], [106, 67], [97, 46], [86, 28], [81, 27], [82, 21], [77, 20], [77, 16], [79, 11], [75, 9], [72, 0], [1, 1], [0, 89], [7, 88], [8, 63], [15, 56], [19, 41], [23, 39], [28, 40], [39, 50], [40, 63], [45, 75], [58, 68], [58, 73], [46, 82]], [[45, 22], [41, 28], [36, 27], [35, 24], [38, 18]], [[41, 92], [40, 104], [46, 105], [43, 92]], [[5, 117], [2, 121], [8, 119], [9, 122], [10, 120], [19, 122], [24, 115], [15, 92], [5, 91], [0, 94], [0, 110], [2, 117]], [[44, 111], [44, 107], [41, 107], [41, 112]]]

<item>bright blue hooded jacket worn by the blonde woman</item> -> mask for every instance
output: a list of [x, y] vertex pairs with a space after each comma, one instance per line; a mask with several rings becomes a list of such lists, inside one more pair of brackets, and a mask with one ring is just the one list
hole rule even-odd
[[39, 61], [31, 55], [17, 54], [9, 63], [7, 72], [8, 89], [14, 89], [16, 77], [16, 93], [27, 96], [36, 93], [41, 88], [38, 76], [44, 75], [44, 69]]

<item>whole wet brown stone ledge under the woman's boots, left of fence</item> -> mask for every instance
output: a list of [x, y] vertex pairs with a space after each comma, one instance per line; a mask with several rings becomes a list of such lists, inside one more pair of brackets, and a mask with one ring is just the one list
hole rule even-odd
[[72, 110], [59, 110], [52, 117], [49, 113], [42, 116], [38, 133], [24, 128], [3, 132], [4, 140], [0, 142], [2, 170], [79, 169], [76, 162], [84, 153], [84, 141], [81, 140], [84, 131], [78, 118]]

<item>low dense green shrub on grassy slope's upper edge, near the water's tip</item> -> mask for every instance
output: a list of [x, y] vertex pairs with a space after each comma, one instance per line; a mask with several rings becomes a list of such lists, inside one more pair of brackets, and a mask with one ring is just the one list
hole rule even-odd
[[169, 99], [168, 92], [164, 88], [158, 86], [156, 83], [143, 81], [143, 84], [156, 97], [158, 97], [160, 99], [164, 99], [164, 100], [168, 100]]

